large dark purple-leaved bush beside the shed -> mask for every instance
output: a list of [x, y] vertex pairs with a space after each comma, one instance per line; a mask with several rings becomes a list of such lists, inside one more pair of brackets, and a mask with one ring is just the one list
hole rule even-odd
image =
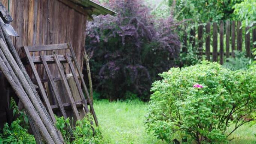
[[94, 88], [101, 98], [148, 100], [157, 74], [175, 66], [180, 42], [173, 19], [156, 20], [141, 0], [111, 0], [117, 16], [95, 16], [88, 23], [86, 49]]

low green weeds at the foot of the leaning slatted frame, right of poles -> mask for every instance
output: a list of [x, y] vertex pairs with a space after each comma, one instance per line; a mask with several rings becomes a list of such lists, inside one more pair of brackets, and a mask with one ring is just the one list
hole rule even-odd
[[77, 120], [73, 128], [70, 125], [70, 119], [64, 119], [64, 117], [56, 117], [56, 119], [56, 126], [61, 131], [65, 144], [107, 144], [100, 128], [91, 125], [92, 117]]

